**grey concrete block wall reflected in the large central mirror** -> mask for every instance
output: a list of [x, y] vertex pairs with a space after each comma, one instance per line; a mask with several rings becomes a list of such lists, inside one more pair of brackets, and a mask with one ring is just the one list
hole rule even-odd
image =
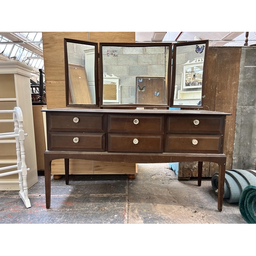
[[104, 46], [102, 51], [103, 73], [119, 77], [121, 104], [135, 103], [136, 76], [165, 76], [163, 47]]

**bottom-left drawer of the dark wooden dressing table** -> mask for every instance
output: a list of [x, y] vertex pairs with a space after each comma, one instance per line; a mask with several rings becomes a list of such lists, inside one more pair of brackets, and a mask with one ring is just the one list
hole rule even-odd
[[48, 150], [105, 151], [105, 134], [49, 132]]

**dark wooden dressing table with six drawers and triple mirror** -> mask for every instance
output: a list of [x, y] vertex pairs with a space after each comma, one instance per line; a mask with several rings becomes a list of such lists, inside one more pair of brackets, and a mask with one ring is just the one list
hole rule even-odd
[[[67, 108], [42, 110], [46, 112], [48, 146], [44, 154], [46, 207], [51, 205], [51, 162], [55, 159], [65, 159], [66, 184], [69, 159], [120, 163], [196, 161], [199, 186], [205, 161], [219, 165], [221, 211], [225, 122], [230, 114], [203, 110], [208, 41], [176, 45], [100, 43], [99, 52], [97, 43], [67, 38], [64, 42]], [[83, 63], [84, 52], [88, 51], [89, 66]], [[199, 57], [200, 87], [196, 89], [200, 101], [196, 105], [183, 104], [186, 110], [169, 110], [177, 106], [175, 85], [181, 84], [183, 76], [178, 71], [184, 70], [184, 63]], [[75, 67], [73, 78], [71, 66]], [[76, 75], [78, 66], [84, 70]], [[192, 71], [189, 75], [194, 77]], [[199, 73], [195, 75], [199, 77]], [[80, 94], [90, 94], [90, 100], [81, 102]]]

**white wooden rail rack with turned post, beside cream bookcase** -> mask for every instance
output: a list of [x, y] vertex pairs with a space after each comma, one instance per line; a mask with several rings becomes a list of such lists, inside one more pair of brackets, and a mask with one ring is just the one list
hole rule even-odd
[[[27, 136], [27, 134], [25, 134], [23, 130], [22, 110], [18, 106], [15, 106], [13, 110], [0, 110], [0, 114], [1, 113], [13, 113], [14, 132], [0, 133], [0, 140], [15, 138], [17, 164], [1, 167], [0, 171], [4, 170], [5, 172], [0, 173], [0, 177], [12, 175], [12, 174], [18, 174], [19, 197], [23, 200], [25, 206], [29, 208], [31, 207], [30, 200], [28, 197], [28, 184], [27, 184], [27, 171], [29, 170], [29, 168], [27, 168], [27, 165], [25, 162], [25, 147], [24, 147], [25, 136]], [[4, 122], [5, 120], [2, 119], [0, 120], [0, 122], [1, 121]], [[2, 143], [5, 143], [5, 141], [3, 140]], [[10, 170], [10, 169], [15, 169], [15, 170]]]

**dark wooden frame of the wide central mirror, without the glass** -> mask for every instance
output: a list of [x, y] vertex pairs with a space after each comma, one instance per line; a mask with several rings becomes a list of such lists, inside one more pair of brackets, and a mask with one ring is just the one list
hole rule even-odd
[[[118, 42], [100, 42], [99, 43], [99, 105], [102, 108], [169, 108], [170, 106], [170, 88], [172, 82], [172, 43], [118, 43]], [[168, 62], [167, 62], [167, 90], [166, 92], [166, 104], [103, 104], [103, 47], [169, 47]], [[116, 75], [116, 74], [115, 74]], [[143, 76], [143, 75], [142, 75]], [[154, 76], [155, 77], [155, 76]]]

